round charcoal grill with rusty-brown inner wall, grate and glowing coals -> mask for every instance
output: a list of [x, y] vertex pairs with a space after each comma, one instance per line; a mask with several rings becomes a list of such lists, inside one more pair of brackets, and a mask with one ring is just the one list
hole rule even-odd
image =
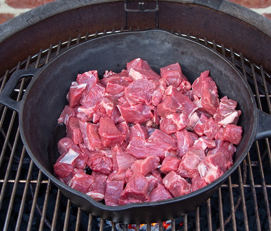
[[[154, 27], [227, 57], [248, 80], [258, 108], [271, 113], [271, 21], [228, 1], [55, 1], [35, 8], [0, 26], [0, 92], [15, 70], [41, 67], [81, 41]], [[28, 83], [22, 79], [12, 97], [20, 100]], [[118, 224], [61, 195], [28, 157], [18, 115], [3, 105], [0, 110], [1, 230], [271, 230], [269, 139], [256, 141], [237, 171], [195, 211], [171, 222]]]

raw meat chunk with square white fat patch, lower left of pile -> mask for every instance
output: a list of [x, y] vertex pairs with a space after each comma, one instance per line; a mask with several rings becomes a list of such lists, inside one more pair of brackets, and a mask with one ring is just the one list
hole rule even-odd
[[62, 154], [54, 164], [54, 174], [60, 178], [65, 178], [71, 174], [75, 168], [79, 154], [72, 149]]

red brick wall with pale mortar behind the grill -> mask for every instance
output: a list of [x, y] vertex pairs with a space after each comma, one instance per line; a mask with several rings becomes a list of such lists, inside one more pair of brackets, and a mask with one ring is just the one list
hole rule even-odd
[[[39, 5], [55, 0], [0, 0], [0, 24]], [[271, 19], [271, 0], [231, 0]]]

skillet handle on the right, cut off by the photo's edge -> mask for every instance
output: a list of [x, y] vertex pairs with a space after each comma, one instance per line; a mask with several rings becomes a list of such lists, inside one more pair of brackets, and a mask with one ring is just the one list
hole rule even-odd
[[255, 140], [271, 137], [271, 115], [258, 110], [258, 125]]

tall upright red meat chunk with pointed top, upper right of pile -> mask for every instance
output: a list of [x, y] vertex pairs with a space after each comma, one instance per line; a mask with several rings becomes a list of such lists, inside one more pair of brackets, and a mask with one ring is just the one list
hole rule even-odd
[[214, 115], [219, 105], [218, 91], [215, 82], [209, 76], [209, 71], [202, 72], [192, 84], [195, 95], [201, 98], [202, 107]]

